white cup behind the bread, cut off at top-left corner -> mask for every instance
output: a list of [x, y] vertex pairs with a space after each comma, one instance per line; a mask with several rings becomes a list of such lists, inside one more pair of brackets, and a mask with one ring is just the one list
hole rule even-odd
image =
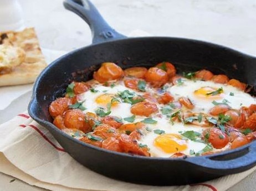
[[0, 31], [22, 30], [22, 7], [17, 0], [0, 0]]

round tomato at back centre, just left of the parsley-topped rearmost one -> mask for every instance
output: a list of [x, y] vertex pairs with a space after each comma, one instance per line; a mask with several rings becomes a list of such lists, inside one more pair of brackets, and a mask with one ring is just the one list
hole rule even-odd
[[150, 82], [152, 87], [161, 87], [163, 84], [168, 82], [168, 75], [165, 71], [160, 68], [152, 67], [149, 68], [145, 75], [145, 80]]

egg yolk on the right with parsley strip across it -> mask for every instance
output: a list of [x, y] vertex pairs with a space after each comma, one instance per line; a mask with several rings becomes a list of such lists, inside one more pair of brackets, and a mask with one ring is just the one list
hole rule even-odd
[[217, 88], [212, 88], [212, 87], [202, 87], [194, 91], [194, 94], [199, 96], [199, 97], [204, 97], [204, 98], [221, 98], [222, 97], [223, 90], [217, 89]]

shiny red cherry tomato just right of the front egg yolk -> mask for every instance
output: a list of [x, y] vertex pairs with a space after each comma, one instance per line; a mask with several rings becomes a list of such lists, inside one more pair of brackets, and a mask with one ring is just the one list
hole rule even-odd
[[228, 135], [217, 128], [208, 128], [203, 131], [203, 137], [214, 148], [223, 148], [229, 142]]

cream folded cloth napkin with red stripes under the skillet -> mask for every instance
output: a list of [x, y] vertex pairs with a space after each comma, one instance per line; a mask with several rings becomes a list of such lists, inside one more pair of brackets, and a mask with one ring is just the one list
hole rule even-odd
[[107, 178], [80, 165], [27, 112], [0, 125], [0, 171], [50, 190], [226, 190], [252, 173], [183, 186], [156, 187]]

